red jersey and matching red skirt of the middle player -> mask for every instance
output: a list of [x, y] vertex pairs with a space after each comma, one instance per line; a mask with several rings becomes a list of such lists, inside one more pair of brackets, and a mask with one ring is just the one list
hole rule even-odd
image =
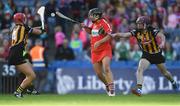
[[90, 28], [91, 30], [91, 60], [92, 63], [101, 61], [105, 56], [112, 58], [112, 47], [111, 40], [108, 40], [102, 43], [98, 48], [94, 48], [95, 42], [103, 39], [106, 35], [99, 34], [99, 29], [102, 28], [105, 30], [105, 33], [110, 34], [112, 29], [108, 22], [105, 19], [100, 19], [97, 22], [93, 23]]

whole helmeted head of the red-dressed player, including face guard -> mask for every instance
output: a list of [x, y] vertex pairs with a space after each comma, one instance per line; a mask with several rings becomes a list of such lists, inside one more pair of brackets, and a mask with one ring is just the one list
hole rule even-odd
[[102, 17], [102, 11], [99, 8], [93, 8], [89, 10], [88, 17], [91, 21], [95, 22]]

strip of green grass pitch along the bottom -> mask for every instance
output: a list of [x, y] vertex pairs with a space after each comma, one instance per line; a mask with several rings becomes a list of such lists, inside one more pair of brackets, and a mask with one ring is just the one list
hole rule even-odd
[[18, 99], [13, 95], [0, 95], [0, 106], [180, 106], [180, 94], [135, 95], [106, 94], [41, 94], [24, 95]]

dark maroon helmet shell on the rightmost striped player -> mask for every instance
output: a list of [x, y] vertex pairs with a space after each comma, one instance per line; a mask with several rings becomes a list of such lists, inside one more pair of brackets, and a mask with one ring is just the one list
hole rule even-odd
[[148, 16], [140, 16], [136, 20], [136, 24], [141, 23], [141, 24], [150, 24], [150, 18]]

